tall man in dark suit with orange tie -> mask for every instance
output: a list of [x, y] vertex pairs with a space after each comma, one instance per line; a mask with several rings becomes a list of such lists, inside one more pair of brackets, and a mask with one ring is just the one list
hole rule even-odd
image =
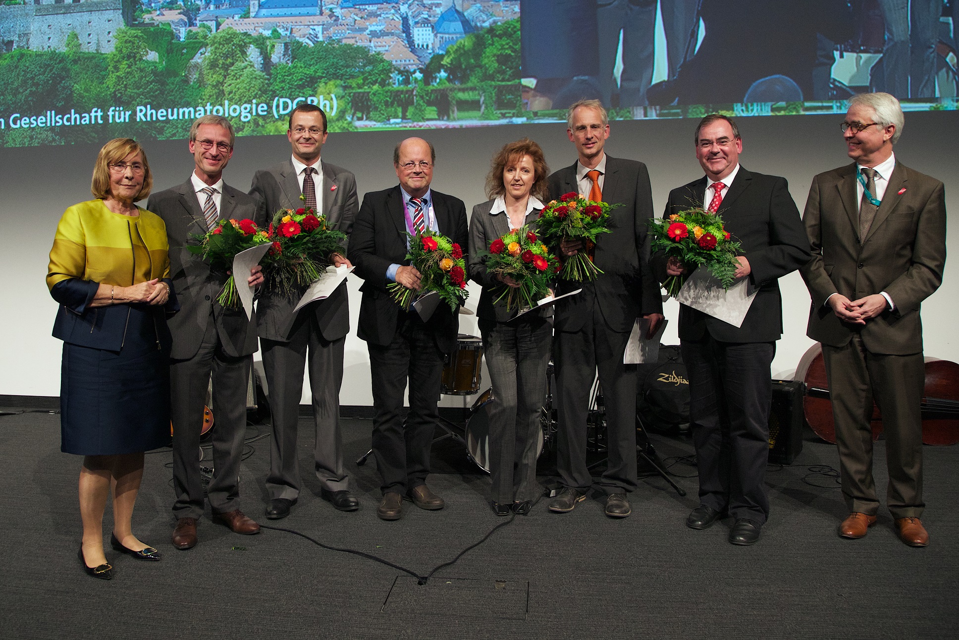
[[603, 273], [592, 282], [557, 282], [557, 294], [583, 291], [555, 309], [553, 360], [560, 398], [556, 466], [563, 489], [550, 501], [550, 510], [573, 510], [593, 485], [586, 465], [586, 418], [598, 371], [606, 398], [609, 452], [598, 485], [606, 493], [606, 514], [623, 518], [631, 512], [626, 494], [637, 486], [637, 368], [623, 365], [622, 357], [637, 318], [651, 320], [652, 333], [663, 320], [660, 287], [646, 264], [646, 221], [653, 215], [653, 197], [642, 162], [603, 152], [609, 120], [599, 101], [573, 104], [568, 124], [579, 158], [550, 176], [550, 197], [575, 192], [621, 206], [612, 210], [611, 233], [601, 234], [596, 247], [584, 247], [579, 240], [564, 240], [560, 247], [564, 256], [589, 251]]

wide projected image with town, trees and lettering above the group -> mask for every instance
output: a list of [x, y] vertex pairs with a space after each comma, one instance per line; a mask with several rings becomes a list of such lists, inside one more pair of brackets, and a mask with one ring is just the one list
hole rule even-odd
[[0, 1], [4, 147], [184, 138], [205, 114], [279, 133], [303, 102], [332, 131], [555, 122], [582, 98], [613, 119], [877, 90], [956, 108], [959, 0]]

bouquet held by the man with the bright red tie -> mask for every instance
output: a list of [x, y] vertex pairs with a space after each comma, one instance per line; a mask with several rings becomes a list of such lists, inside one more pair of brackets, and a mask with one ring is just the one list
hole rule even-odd
[[[722, 283], [723, 289], [733, 286], [740, 244], [726, 231], [720, 216], [694, 207], [668, 218], [654, 218], [649, 226], [653, 251], [666, 251], [687, 267], [705, 266]], [[675, 296], [686, 278], [686, 275], [670, 276], [663, 286], [670, 296]]]

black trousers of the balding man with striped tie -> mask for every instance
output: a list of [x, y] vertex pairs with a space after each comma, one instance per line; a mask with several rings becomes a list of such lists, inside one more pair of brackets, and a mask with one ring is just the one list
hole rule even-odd
[[[426, 484], [439, 413], [443, 353], [415, 312], [400, 314], [393, 342], [367, 343], [373, 383], [373, 455], [381, 490], [405, 494]], [[409, 414], [403, 395], [409, 380]]]

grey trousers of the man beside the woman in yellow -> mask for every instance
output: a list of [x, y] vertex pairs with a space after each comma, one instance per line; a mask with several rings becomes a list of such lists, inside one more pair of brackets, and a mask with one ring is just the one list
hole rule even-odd
[[[174, 336], [174, 340], [176, 336]], [[199, 432], [203, 404], [213, 374], [213, 479], [207, 487], [210, 508], [224, 513], [240, 508], [240, 459], [246, 435], [246, 386], [251, 356], [223, 352], [211, 314], [197, 355], [171, 360], [170, 406], [174, 425], [174, 515], [203, 515], [199, 475]]]

